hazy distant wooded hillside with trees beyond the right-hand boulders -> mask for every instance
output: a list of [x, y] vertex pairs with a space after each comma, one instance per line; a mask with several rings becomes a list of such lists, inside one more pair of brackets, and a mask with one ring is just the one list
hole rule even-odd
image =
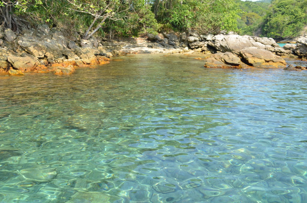
[[307, 24], [306, 0], [273, 0], [239, 2], [243, 10], [238, 27], [242, 34], [273, 37], [295, 37]]

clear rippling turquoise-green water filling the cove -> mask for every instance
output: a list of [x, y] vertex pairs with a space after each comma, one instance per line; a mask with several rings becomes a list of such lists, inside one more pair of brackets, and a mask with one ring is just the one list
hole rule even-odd
[[193, 57], [0, 76], [0, 202], [307, 202], [306, 71]]

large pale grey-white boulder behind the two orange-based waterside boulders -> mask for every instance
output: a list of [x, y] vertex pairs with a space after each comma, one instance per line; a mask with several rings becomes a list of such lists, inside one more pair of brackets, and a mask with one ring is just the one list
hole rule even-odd
[[265, 49], [266, 47], [264, 44], [256, 42], [249, 36], [234, 34], [218, 34], [214, 36], [208, 44], [220, 52], [231, 52], [237, 55], [239, 55], [241, 49], [246, 47], [257, 47], [261, 49]]

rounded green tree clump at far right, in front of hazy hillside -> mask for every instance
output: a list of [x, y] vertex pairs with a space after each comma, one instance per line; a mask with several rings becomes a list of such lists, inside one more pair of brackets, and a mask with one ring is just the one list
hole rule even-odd
[[306, 23], [306, 1], [276, 0], [264, 20], [263, 34], [274, 38], [294, 37]]

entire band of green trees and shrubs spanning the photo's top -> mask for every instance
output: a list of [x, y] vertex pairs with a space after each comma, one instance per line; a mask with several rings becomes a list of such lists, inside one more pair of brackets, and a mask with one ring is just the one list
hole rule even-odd
[[0, 26], [19, 32], [41, 22], [84, 39], [141, 33], [235, 31], [297, 36], [307, 24], [307, 0], [2, 0]]

